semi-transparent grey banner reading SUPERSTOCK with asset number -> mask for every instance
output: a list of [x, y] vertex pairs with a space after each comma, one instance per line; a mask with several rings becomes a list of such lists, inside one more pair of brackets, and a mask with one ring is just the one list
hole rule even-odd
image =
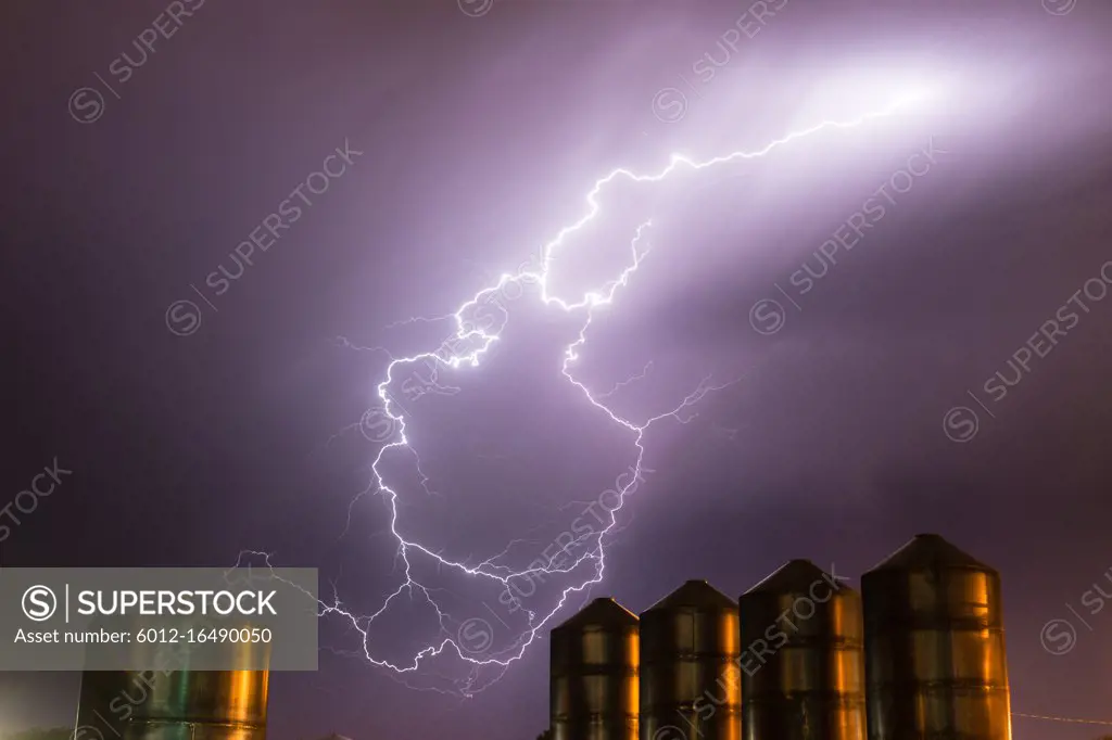
[[4, 568], [0, 671], [317, 670], [316, 568]]

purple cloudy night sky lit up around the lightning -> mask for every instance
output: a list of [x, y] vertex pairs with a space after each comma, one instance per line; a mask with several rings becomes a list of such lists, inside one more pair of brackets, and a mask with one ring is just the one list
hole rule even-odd
[[[512, 740], [590, 598], [856, 582], [935, 531], [1002, 573], [1013, 710], [1112, 723], [1112, 6], [115, 6], [0, 11], [0, 504], [73, 471], [4, 567], [319, 568], [416, 669], [326, 616], [268, 737]], [[393, 366], [401, 443], [391, 357], [483, 344], [451, 313], [598, 179], [804, 130], [605, 186], [461, 314], [479, 367]], [[0, 673], [0, 733], [78, 686]]]

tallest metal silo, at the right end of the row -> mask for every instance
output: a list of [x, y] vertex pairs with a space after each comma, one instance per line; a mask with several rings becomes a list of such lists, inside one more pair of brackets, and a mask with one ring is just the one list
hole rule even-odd
[[862, 579], [871, 740], [1010, 740], [1000, 574], [917, 534]]

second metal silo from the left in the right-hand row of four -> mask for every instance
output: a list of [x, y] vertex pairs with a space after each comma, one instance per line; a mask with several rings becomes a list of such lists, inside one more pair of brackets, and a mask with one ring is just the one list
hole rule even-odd
[[642, 740], [741, 740], [737, 603], [687, 581], [641, 614]]

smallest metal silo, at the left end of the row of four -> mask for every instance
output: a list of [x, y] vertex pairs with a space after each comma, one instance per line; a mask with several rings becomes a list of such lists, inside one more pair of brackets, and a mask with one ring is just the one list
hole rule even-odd
[[550, 639], [553, 740], [637, 740], [637, 616], [595, 599]]

